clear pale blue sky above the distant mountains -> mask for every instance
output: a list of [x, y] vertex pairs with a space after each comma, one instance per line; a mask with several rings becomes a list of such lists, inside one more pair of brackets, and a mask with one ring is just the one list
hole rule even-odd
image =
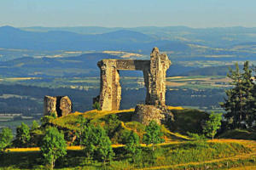
[[256, 0], [0, 0], [0, 26], [256, 27]]

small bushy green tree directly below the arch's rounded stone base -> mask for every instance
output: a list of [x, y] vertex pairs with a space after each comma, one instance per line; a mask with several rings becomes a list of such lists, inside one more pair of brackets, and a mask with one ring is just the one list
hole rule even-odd
[[143, 141], [145, 144], [152, 144], [152, 150], [154, 150], [154, 144], [160, 144], [165, 141], [164, 139], [161, 139], [163, 133], [160, 129], [160, 125], [155, 121], [149, 122], [148, 126], [146, 126], [146, 133], [143, 135]]

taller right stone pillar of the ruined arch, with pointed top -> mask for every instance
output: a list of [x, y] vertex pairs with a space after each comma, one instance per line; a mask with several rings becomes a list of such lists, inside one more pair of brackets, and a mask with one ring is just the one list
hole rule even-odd
[[166, 71], [171, 64], [166, 54], [160, 54], [158, 48], [153, 48], [150, 54], [150, 70], [148, 73], [144, 71], [144, 78], [148, 78], [148, 85], [145, 80], [146, 105], [166, 105]]

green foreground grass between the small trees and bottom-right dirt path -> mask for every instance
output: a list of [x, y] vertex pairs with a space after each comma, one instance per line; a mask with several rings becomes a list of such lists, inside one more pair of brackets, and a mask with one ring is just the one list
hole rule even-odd
[[[237, 143], [206, 143], [203, 145], [185, 142], [181, 144], [159, 145], [154, 154], [150, 147], [143, 147], [141, 161], [131, 163], [124, 155], [123, 147], [114, 148], [115, 156], [106, 169], [131, 169], [134, 167], [172, 166], [195, 161], [209, 161], [212, 159], [249, 153], [251, 150]], [[104, 169], [101, 162], [85, 160], [82, 150], [68, 150], [67, 156], [55, 163], [56, 169]], [[40, 152], [9, 152], [1, 156], [2, 169], [44, 169], [44, 161]]]

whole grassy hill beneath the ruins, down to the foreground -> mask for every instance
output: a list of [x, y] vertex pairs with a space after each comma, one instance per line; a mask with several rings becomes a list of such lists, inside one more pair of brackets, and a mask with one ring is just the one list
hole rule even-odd
[[[151, 145], [143, 143], [145, 126], [139, 122], [131, 122], [134, 109], [123, 111], [86, 111], [75, 112], [69, 116], [55, 118], [49, 123], [66, 134], [67, 156], [55, 163], [57, 169], [226, 169], [228, 167], [255, 166], [256, 142], [253, 140], [214, 139], [192, 140], [184, 136], [187, 132], [201, 133], [201, 122], [207, 113], [183, 107], [168, 106], [175, 116], [175, 122], [162, 125], [165, 143], [157, 144], [154, 152]], [[113, 161], [103, 165], [102, 162], [85, 159], [83, 148], [72, 141], [72, 135], [79, 130], [79, 117], [90, 119], [93, 124], [105, 128], [112, 141]], [[171, 129], [171, 131], [170, 131]], [[140, 161], [132, 162], [125, 154], [125, 134], [134, 131], [140, 137], [142, 156]], [[223, 138], [233, 135], [222, 134]], [[239, 131], [240, 132], [240, 131]], [[42, 136], [44, 130], [37, 129], [33, 133]], [[67, 135], [68, 133], [68, 135]], [[182, 134], [181, 134], [182, 133]], [[243, 132], [246, 136], [249, 132]], [[251, 136], [253, 138], [253, 134]], [[69, 138], [69, 140], [68, 140]], [[45, 169], [44, 161], [38, 147], [9, 149], [0, 159], [0, 169]]]

